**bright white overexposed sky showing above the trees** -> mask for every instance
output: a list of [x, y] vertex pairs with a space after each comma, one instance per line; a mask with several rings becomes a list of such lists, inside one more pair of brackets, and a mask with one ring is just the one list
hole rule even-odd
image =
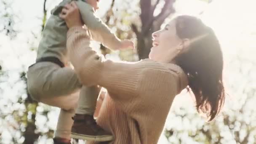
[[[60, 1], [61, 0], [48, 0], [48, 3], [46, 4], [47, 10], [51, 10]], [[21, 30], [21, 32], [16, 38], [17, 43], [8, 43], [8, 37], [0, 35], [2, 41], [0, 45], [2, 45], [2, 48], [11, 47], [11, 49], [7, 50], [3, 48], [1, 50], [0, 56], [8, 55], [8, 59], [6, 59], [6, 61], [11, 61], [13, 56], [20, 57], [19, 60], [23, 61], [24, 64], [31, 64], [33, 63], [33, 61], [29, 61], [31, 59], [26, 60], [23, 58], [31, 56], [35, 57], [35, 51], [32, 53], [27, 53], [27, 51], [25, 51], [25, 53], [23, 53], [25, 55], [24, 57], [21, 56], [21, 53], [24, 50], [24, 47], [27, 47], [27, 43], [32, 44], [35, 47], [38, 45], [38, 40], [37, 43], [35, 43], [35, 41], [32, 43], [31, 39], [34, 37], [34, 35], [40, 36], [39, 26], [41, 25], [41, 19], [43, 16], [43, 0], [14, 0], [13, 2], [14, 4], [12, 11], [13, 13], [18, 14], [19, 17], [19, 19], [16, 19], [18, 24], [15, 25], [15, 28]], [[116, 0], [116, 3], [120, 2], [121, 0]], [[111, 0], [101, 0], [99, 3], [100, 9], [96, 14], [100, 17], [104, 16], [104, 13], [106, 13], [110, 3]], [[237, 32], [240, 32], [239, 35], [242, 36], [239, 38], [248, 40], [249, 37], [244, 35], [248, 34], [248, 32], [250, 32], [252, 29], [254, 31], [256, 30], [256, 20], [253, 19], [255, 14], [253, 5], [256, 5], [255, 0], [243, 0], [242, 4], [240, 0], [213, 0], [210, 5], [207, 5], [200, 0], [177, 0], [177, 3], [175, 4], [176, 10], [179, 13], [189, 13], [196, 15], [200, 11], [204, 11], [204, 14], [201, 16], [202, 19], [211, 27], [213, 27], [221, 40], [222, 38], [226, 39], [221, 41], [223, 45], [228, 43], [230, 40], [236, 39]], [[48, 16], [50, 16], [50, 11], [48, 11]], [[227, 37], [230, 40], [227, 40]], [[253, 39], [253, 37], [251, 37], [251, 39]], [[225, 46], [224, 51], [226, 50], [229, 53], [235, 53], [235, 51], [229, 51], [229, 48]], [[253, 49], [250, 51], [255, 52]], [[11, 64], [10, 62], [2, 64], [2, 67], [15, 69], [19, 67], [18, 64], [19, 63], [16, 61], [13, 61]]]

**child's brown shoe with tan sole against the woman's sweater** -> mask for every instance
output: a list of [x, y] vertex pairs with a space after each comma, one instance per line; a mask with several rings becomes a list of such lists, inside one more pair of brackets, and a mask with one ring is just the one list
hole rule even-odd
[[93, 118], [93, 115], [75, 115], [74, 124], [71, 130], [73, 139], [88, 141], [111, 141], [113, 136], [104, 131]]

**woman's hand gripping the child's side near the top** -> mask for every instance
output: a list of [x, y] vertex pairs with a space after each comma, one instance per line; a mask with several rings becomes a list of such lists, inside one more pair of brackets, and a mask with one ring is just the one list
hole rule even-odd
[[62, 8], [59, 16], [61, 19], [66, 21], [67, 27], [69, 28], [83, 26], [80, 11], [74, 1], [72, 1], [70, 4], [66, 4], [64, 8]]

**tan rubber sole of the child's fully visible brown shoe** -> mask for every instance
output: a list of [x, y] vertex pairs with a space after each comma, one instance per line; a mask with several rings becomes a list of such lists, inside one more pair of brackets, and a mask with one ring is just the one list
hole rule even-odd
[[71, 133], [71, 137], [73, 139], [83, 139], [88, 141], [112, 141], [114, 139], [113, 136], [104, 135], [104, 136], [88, 136], [79, 133]]

